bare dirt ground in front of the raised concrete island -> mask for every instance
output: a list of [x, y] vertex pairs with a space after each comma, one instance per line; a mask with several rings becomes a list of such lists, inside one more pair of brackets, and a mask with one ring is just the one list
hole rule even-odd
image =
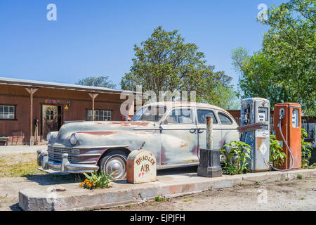
[[[266, 197], [266, 198], [265, 198]], [[164, 202], [126, 205], [105, 210], [209, 211], [209, 210], [316, 210], [316, 178], [216, 189]]]

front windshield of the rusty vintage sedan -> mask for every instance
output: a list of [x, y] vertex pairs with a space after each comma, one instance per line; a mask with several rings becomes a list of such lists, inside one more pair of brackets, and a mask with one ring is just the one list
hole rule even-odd
[[166, 107], [164, 106], [147, 106], [138, 110], [132, 121], [158, 122], [162, 119], [164, 113], [166, 113]]

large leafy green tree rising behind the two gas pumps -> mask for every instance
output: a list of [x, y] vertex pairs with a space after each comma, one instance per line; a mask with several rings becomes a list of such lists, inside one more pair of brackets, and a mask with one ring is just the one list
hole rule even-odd
[[315, 115], [315, 21], [315, 0], [269, 8], [268, 20], [261, 21], [270, 26], [261, 51], [249, 56], [239, 48], [232, 53], [243, 97], [268, 98], [272, 106], [297, 102], [305, 115]]

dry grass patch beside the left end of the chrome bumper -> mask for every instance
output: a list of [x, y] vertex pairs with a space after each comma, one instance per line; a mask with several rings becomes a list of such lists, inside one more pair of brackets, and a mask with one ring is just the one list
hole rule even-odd
[[0, 156], [0, 177], [44, 174], [37, 168], [37, 153], [20, 153]]

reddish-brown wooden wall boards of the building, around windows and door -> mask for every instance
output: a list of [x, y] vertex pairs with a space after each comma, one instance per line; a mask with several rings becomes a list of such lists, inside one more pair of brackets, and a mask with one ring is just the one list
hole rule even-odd
[[[95, 109], [112, 110], [112, 120], [121, 120], [119, 94], [99, 94]], [[92, 99], [86, 91], [40, 88], [33, 98], [33, 120], [39, 120], [41, 134], [41, 105], [46, 100], [59, 101], [62, 108], [62, 123], [71, 120], [86, 120], [86, 109], [92, 108]], [[69, 110], [65, 105], [70, 101]], [[12, 136], [12, 131], [23, 131], [29, 141], [29, 93], [24, 86], [0, 84], [0, 105], [15, 105], [15, 120], [0, 120], [0, 136]], [[34, 135], [34, 134], [33, 134]]]

